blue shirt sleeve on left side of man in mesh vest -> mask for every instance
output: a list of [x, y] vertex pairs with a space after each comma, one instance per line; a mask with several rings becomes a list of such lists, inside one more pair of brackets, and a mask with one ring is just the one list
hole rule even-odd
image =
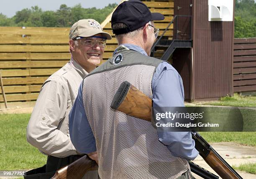
[[82, 97], [83, 82], [81, 83], [77, 98], [69, 113], [69, 132], [74, 147], [80, 153], [96, 151], [95, 138], [87, 120]]

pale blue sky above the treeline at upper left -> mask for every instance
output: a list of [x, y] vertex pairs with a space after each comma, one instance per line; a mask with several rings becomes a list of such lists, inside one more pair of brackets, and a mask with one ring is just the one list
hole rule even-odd
[[3, 0], [0, 5], [0, 13], [7, 15], [8, 18], [15, 15], [16, 11], [24, 8], [31, 8], [37, 5], [42, 10], [57, 10], [61, 4], [68, 7], [81, 4], [83, 8], [104, 8], [109, 3], [120, 3], [121, 0]]

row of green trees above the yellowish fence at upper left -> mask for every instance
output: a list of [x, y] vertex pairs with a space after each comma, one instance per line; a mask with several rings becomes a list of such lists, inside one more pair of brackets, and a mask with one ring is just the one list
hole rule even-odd
[[79, 19], [95, 19], [99, 23], [112, 12], [116, 3], [105, 8], [82, 8], [81, 4], [70, 8], [62, 4], [56, 11], [42, 11], [38, 6], [17, 11], [12, 18], [0, 14], [0, 26], [70, 27]]

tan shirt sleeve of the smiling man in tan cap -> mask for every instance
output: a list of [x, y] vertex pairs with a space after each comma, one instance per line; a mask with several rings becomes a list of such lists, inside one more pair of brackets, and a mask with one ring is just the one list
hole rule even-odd
[[67, 113], [68, 93], [64, 84], [49, 81], [41, 89], [27, 126], [27, 141], [55, 157], [77, 154], [69, 134], [58, 130]]

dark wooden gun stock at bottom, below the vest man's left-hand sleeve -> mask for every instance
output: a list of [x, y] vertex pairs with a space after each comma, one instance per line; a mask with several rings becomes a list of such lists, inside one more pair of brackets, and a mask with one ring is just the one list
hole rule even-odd
[[94, 160], [87, 155], [56, 171], [52, 179], [81, 179], [87, 171], [98, 169]]

